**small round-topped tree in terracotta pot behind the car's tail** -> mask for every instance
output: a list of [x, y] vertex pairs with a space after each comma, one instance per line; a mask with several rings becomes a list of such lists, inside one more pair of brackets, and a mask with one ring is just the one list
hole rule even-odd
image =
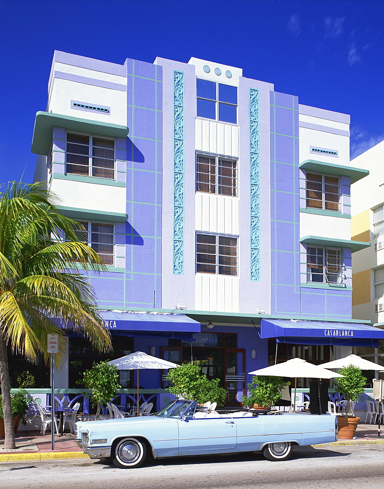
[[352, 416], [352, 401], [356, 402], [363, 393], [366, 377], [362, 374], [361, 369], [355, 365], [342, 367], [339, 369], [339, 374], [344, 375], [344, 377], [335, 378], [335, 389], [340, 394], [343, 394], [344, 399], [348, 401], [345, 414], [337, 417], [339, 438], [352, 440], [360, 422], [358, 416]]

